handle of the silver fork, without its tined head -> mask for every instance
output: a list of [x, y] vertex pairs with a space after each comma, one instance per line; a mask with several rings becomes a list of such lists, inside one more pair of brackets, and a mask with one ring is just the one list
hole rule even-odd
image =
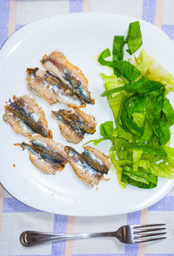
[[93, 233], [79, 233], [79, 234], [62, 234], [62, 233], [48, 233], [24, 231], [21, 233], [20, 242], [23, 246], [31, 247], [41, 245], [50, 241], [64, 240], [64, 239], [88, 239], [98, 237], [117, 237], [117, 232], [93, 232]]

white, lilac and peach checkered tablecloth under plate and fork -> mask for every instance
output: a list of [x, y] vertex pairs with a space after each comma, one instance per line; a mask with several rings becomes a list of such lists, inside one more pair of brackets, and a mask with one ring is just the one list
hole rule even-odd
[[[0, 0], [0, 45], [15, 30], [34, 20], [83, 11], [144, 19], [174, 40], [174, 0]], [[27, 229], [61, 233], [100, 232], [125, 224], [157, 222], [167, 224], [167, 239], [147, 245], [124, 245], [116, 239], [104, 238], [54, 242], [33, 248], [24, 248], [19, 243], [20, 233]], [[13, 199], [0, 185], [0, 256], [19, 255], [174, 256], [174, 190], [143, 211], [104, 218], [79, 218], [37, 211]]]

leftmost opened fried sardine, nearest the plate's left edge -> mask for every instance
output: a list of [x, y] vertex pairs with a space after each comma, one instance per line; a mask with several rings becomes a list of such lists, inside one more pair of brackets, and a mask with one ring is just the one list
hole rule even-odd
[[17, 133], [30, 137], [37, 132], [43, 137], [52, 138], [43, 109], [31, 95], [14, 96], [13, 102], [10, 101], [4, 108], [3, 121], [10, 124]]

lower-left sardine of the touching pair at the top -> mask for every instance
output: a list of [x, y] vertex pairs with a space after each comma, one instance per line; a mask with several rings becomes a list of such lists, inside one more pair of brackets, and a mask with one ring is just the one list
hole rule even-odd
[[49, 104], [60, 102], [70, 107], [85, 107], [82, 100], [73, 95], [70, 86], [50, 71], [28, 68], [26, 80], [28, 90], [38, 97], [44, 98]]

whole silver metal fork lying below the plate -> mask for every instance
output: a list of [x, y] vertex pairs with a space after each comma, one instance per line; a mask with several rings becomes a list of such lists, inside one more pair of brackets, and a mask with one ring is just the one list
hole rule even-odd
[[[149, 224], [149, 225], [131, 225], [121, 226], [114, 232], [94, 232], [94, 233], [78, 233], [78, 234], [62, 234], [24, 231], [20, 236], [23, 246], [37, 246], [49, 241], [57, 241], [62, 239], [87, 239], [98, 237], [115, 237], [124, 244], [135, 244], [151, 242], [166, 239], [165, 224]], [[163, 232], [161, 232], [163, 231]], [[154, 238], [152, 238], [154, 237]]]

